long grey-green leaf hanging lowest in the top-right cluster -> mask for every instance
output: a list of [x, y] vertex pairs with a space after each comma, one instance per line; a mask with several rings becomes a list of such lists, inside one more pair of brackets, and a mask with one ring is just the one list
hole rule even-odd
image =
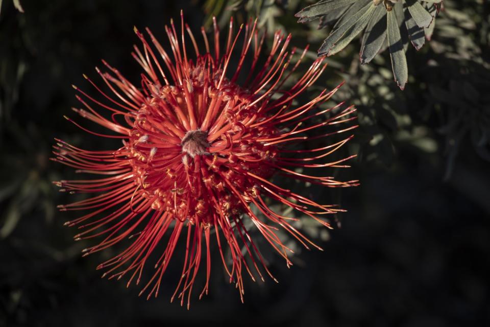
[[408, 80], [408, 66], [405, 51], [403, 50], [402, 36], [396, 14], [393, 10], [387, 12], [387, 39], [389, 45], [389, 56], [391, 58], [391, 66], [393, 67], [393, 75], [398, 86], [403, 90]]

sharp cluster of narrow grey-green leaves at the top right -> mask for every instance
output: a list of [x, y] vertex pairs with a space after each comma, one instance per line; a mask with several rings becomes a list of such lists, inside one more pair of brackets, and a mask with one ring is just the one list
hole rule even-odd
[[395, 81], [403, 89], [408, 80], [408, 41], [419, 50], [425, 39], [431, 38], [441, 3], [442, 0], [322, 0], [296, 16], [300, 17], [299, 22], [320, 19], [319, 28], [334, 23], [318, 56], [338, 53], [361, 31], [362, 64], [389, 48]]

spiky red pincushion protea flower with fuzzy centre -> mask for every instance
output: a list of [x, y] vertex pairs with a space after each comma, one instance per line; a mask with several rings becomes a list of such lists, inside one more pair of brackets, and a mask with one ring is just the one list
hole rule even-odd
[[[255, 21], [240, 26], [234, 36], [231, 20], [224, 50], [219, 44], [216, 24], [212, 42], [203, 29], [203, 53], [183, 18], [180, 35], [171, 22], [165, 31], [173, 58], [149, 29], [146, 32], [151, 42], [135, 29], [142, 42], [142, 50], [135, 46], [133, 53], [144, 70], [141, 88], [105, 61], [108, 72], [103, 73], [99, 68], [96, 71], [112, 95], [86, 76], [101, 93], [102, 100], [74, 86], [79, 92], [77, 98], [85, 106], [74, 111], [116, 135], [92, 132], [67, 119], [92, 134], [122, 141], [119, 149], [106, 151], [82, 150], [59, 139], [54, 147], [56, 158], [53, 160], [74, 167], [79, 173], [101, 175], [94, 179], [55, 182], [61, 191], [101, 192], [95, 197], [59, 206], [62, 211], [90, 210], [66, 223], [84, 228], [75, 236], [76, 240], [103, 237], [102, 242], [85, 249], [84, 255], [124, 239], [132, 240], [126, 250], [97, 267], [106, 269], [103, 276], [120, 279], [128, 275], [128, 286], [133, 280], [139, 284], [149, 256], [158, 252], [160, 258], [152, 263], [156, 271], [141, 291], [148, 291], [148, 298], [152, 294], [156, 296], [170, 258], [182, 241], [186, 249], [182, 277], [172, 300], [178, 296], [182, 305], [187, 296], [188, 306], [202, 261], [206, 262], [206, 283], [200, 298], [208, 293], [210, 247], [215, 239], [230, 282], [234, 281], [243, 300], [243, 270], [253, 280], [256, 274], [263, 279], [263, 271], [275, 280], [244, 221], [248, 219], [253, 223], [288, 266], [291, 265], [290, 250], [276, 235], [278, 227], [305, 247], [319, 248], [293, 226], [297, 219], [272, 211], [267, 203], [271, 200], [282, 203], [327, 227], [330, 225], [322, 216], [340, 209], [317, 203], [269, 179], [278, 173], [285, 178], [327, 187], [356, 185], [355, 180], [341, 182], [298, 171], [347, 167], [342, 162], [350, 157], [333, 162], [324, 162], [323, 158], [352, 136], [313, 149], [290, 146], [308, 140], [322, 141], [329, 135], [352, 130], [355, 125], [334, 131], [324, 128], [351, 122], [355, 119], [351, 116], [355, 109], [340, 109], [337, 105], [314, 111], [330, 99], [337, 88], [330, 92], [323, 90], [303, 105], [293, 105], [293, 100], [318, 79], [326, 64], [323, 59], [315, 60], [301, 78], [291, 81], [290, 87], [284, 87], [304, 59], [306, 50], [294, 59], [296, 49], [287, 51], [290, 35], [285, 37], [277, 32], [271, 52], [265, 63], [259, 65], [265, 35], [259, 34], [256, 24]], [[192, 59], [186, 41], [195, 52]], [[239, 43], [242, 43], [241, 49]], [[231, 70], [234, 56], [237, 61]], [[239, 78], [245, 80], [241, 85], [237, 84]], [[93, 106], [106, 110], [110, 118]], [[326, 113], [331, 113], [330, 118], [304, 125]], [[124, 118], [124, 123], [116, 119], [118, 116]], [[306, 136], [306, 132], [312, 130], [318, 133]], [[226, 250], [231, 255], [230, 265], [225, 260]]]

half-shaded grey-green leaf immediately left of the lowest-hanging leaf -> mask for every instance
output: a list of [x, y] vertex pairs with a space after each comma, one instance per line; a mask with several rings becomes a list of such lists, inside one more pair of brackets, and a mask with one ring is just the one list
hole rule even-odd
[[386, 10], [378, 6], [367, 24], [361, 44], [361, 64], [373, 60], [386, 39]]

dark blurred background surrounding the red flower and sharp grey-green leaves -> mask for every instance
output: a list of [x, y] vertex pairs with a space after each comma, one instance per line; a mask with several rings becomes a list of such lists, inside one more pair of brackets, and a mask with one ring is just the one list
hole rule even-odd
[[[94, 267], [107, 254], [81, 258], [90, 243], [72, 241], [76, 230], [62, 226], [70, 217], [55, 208], [70, 199], [51, 184], [72, 172], [48, 158], [54, 137], [84, 148], [105, 141], [63, 119], [77, 105], [71, 84], [88, 88], [82, 74], [94, 77], [101, 58], [137, 81], [133, 26], [149, 26], [164, 41], [164, 24], [178, 19], [181, 8], [195, 31], [211, 11], [227, 14], [219, 3], [24, 0], [22, 14], [4, 0], [0, 326], [490, 323], [488, 143], [473, 136], [490, 124], [489, 10], [479, 1], [446, 1], [452, 9], [438, 18], [433, 40], [419, 53], [408, 52], [410, 80], [403, 92], [389, 75], [387, 54], [359, 67], [354, 41], [333, 58], [317, 83], [332, 87], [345, 79], [337, 100], [358, 106], [361, 127], [351, 151], [360, 155], [344, 176], [361, 185], [329, 194], [348, 212], [338, 217], [341, 228], [318, 241], [324, 252], [302, 251], [291, 269], [280, 260], [271, 263], [279, 284], [247, 283], [242, 304], [215, 264], [210, 295], [194, 298], [187, 311], [169, 303], [172, 271], [166, 290], [146, 301], [137, 297], [138, 287], [100, 278]], [[314, 50], [326, 31], [296, 24], [293, 14], [305, 4], [276, 2], [277, 12], [259, 14], [269, 27], [292, 32], [293, 43], [309, 41]], [[254, 10], [236, 15], [256, 15]]]

